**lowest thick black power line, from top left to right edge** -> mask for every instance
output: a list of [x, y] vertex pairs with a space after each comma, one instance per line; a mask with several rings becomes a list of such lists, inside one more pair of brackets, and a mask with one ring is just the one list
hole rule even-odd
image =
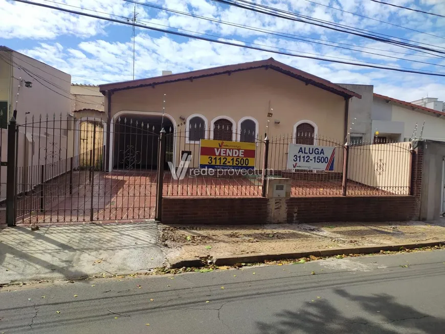
[[167, 33], [167, 34], [173, 34], [173, 35], [182, 36], [182, 37], [188, 37], [188, 38], [194, 38], [194, 39], [199, 39], [199, 40], [205, 40], [205, 41], [209, 41], [209, 42], [225, 44], [225, 45], [234, 46], [234, 47], [238, 47], [238, 48], [246, 48], [246, 49], [251, 49], [251, 50], [270, 52], [270, 53], [281, 54], [281, 55], [285, 55], [285, 56], [298, 57], [298, 58], [306, 58], [306, 59], [314, 59], [314, 60], [321, 60], [321, 61], [329, 61], [329, 62], [336, 62], [336, 63], [342, 63], [342, 64], [347, 64], [347, 65], [354, 65], [354, 66], [363, 66], [363, 67], [374, 68], [374, 69], [391, 70], [391, 71], [397, 71], [397, 72], [426, 74], [426, 75], [445, 77], [445, 73], [441, 73], [441, 72], [438, 72], [438, 73], [427, 73], [427, 72], [414, 71], [414, 70], [393, 69], [393, 68], [388, 68], [386, 66], [380, 66], [380, 65], [358, 64], [358, 63], [354, 63], [354, 62], [347, 62], [347, 61], [340, 61], [340, 60], [328, 60], [328, 59], [324, 59], [324, 58], [321, 58], [321, 57], [302, 56], [302, 55], [296, 55], [296, 54], [292, 54], [292, 53], [286, 53], [286, 52], [280, 52], [280, 51], [275, 51], [275, 50], [268, 50], [268, 49], [256, 48], [256, 47], [251, 47], [251, 46], [246, 46], [246, 45], [240, 45], [240, 44], [231, 43], [231, 42], [227, 42], [227, 41], [223, 41], [223, 40], [214, 40], [214, 39], [211, 39], [211, 38], [206, 38], [206, 37], [201, 37], [201, 36], [193, 36], [193, 35], [190, 35], [190, 34], [185, 34], [185, 33], [177, 32], [177, 31], [169, 31], [169, 30], [160, 29], [160, 28], [147, 27], [147, 26], [144, 26], [144, 25], [140, 25], [140, 24], [136, 24], [136, 23], [133, 24], [133, 23], [117, 20], [117, 19], [114, 19], [114, 18], [101, 17], [101, 16], [98, 16], [98, 15], [78, 12], [78, 11], [74, 11], [74, 10], [70, 10], [70, 9], [44, 5], [44, 4], [40, 4], [40, 3], [33, 3], [33, 2], [29, 2], [27, 0], [13, 0], [13, 1], [20, 2], [20, 3], [25, 3], [25, 4], [29, 4], [29, 5], [34, 5], [34, 6], [39, 6], [39, 7], [55, 9], [55, 10], [63, 11], [63, 12], [66, 12], [66, 13], [71, 13], [71, 14], [77, 14], [77, 15], [81, 15], [81, 16], [87, 16], [87, 17], [102, 19], [102, 20], [106, 20], [106, 21], [110, 21], [110, 22], [120, 23], [120, 24], [127, 25], [127, 26], [135, 25], [138, 28], [143, 28], [143, 29], [163, 32], [163, 33]]

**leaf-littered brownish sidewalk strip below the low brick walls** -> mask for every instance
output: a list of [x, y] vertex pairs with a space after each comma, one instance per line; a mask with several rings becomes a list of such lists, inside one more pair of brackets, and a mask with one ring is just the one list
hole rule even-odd
[[363, 246], [445, 240], [445, 220], [436, 222], [341, 222], [215, 226], [161, 225], [170, 263], [183, 259], [253, 254], [290, 254]]

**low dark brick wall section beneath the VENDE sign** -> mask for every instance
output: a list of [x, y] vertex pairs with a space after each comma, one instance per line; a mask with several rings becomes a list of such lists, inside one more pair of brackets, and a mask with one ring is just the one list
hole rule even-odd
[[262, 224], [267, 221], [268, 198], [164, 197], [164, 224]]

